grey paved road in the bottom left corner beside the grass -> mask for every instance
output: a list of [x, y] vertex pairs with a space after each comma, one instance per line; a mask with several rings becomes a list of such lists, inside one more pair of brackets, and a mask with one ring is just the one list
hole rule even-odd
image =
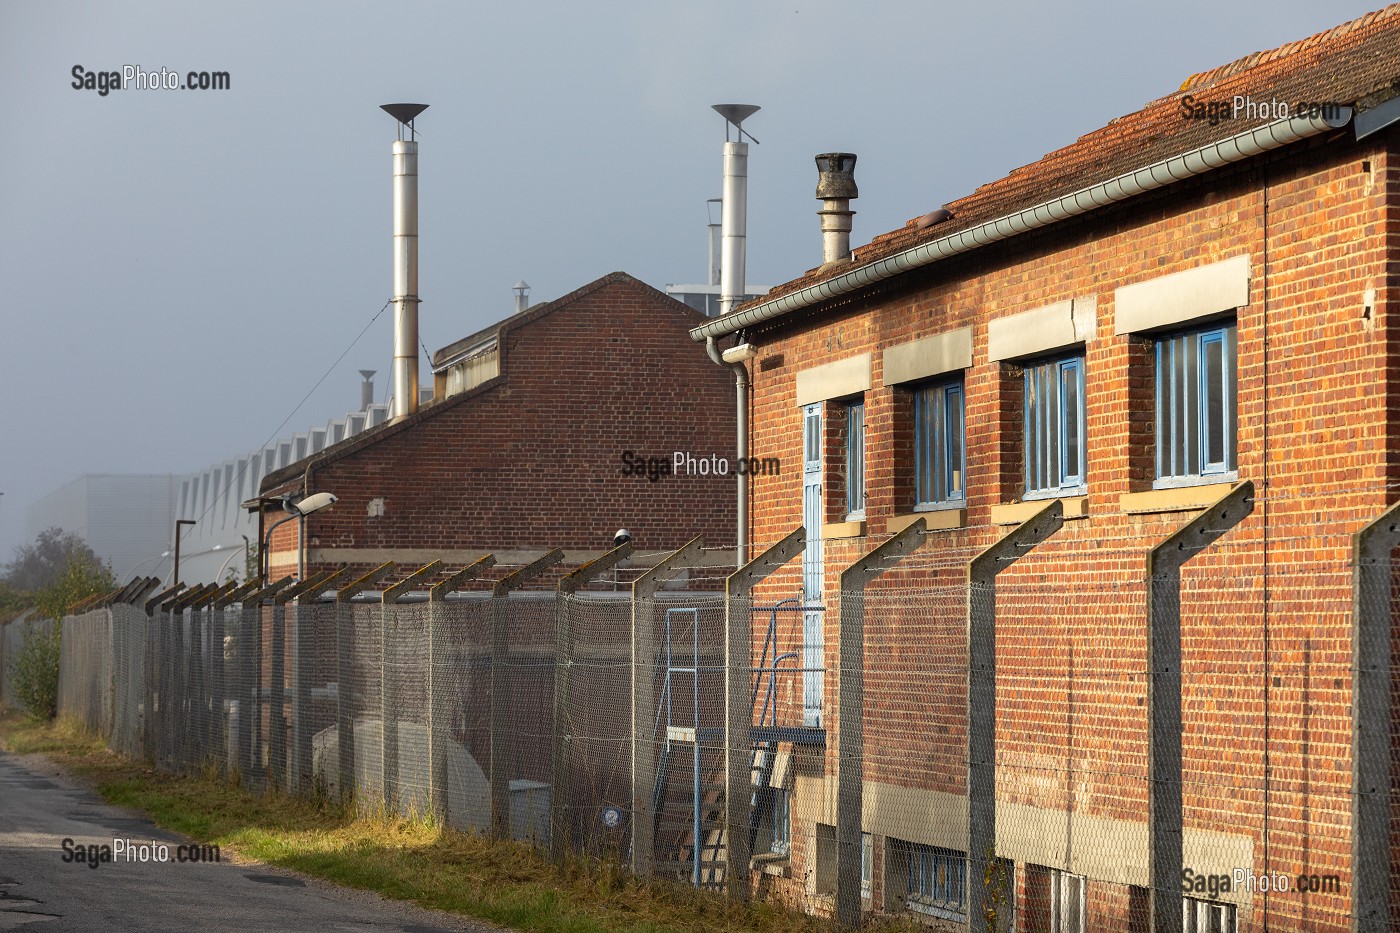
[[[76, 860], [77, 846], [130, 839], [171, 860]], [[63, 841], [74, 860], [64, 863]], [[494, 930], [259, 864], [178, 863], [183, 839], [108, 807], [42, 758], [0, 752], [0, 930]], [[84, 849], [85, 855], [85, 849]], [[125, 859], [125, 856], [123, 856]]]

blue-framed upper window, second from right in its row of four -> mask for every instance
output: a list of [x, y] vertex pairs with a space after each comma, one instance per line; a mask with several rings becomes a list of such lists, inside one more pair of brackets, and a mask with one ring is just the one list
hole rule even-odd
[[1084, 490], [1084, 357], [1071, 356], [1025, 370], [1026, 496]]

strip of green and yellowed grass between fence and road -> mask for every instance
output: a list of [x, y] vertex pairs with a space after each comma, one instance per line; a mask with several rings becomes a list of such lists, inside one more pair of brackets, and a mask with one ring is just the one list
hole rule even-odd
[[[217, 773], [168, 775], [109, 751], [80, 726], [0, 713], [0, 747], [42, 752], [109, 803], [217, 843], [223, 853], [337, 884], [540, 933], [805, 933], [837, 927], [777, 905], [731, 905], [666, 883], [641, 884], [616, 862], [556, 866], [532, 849], [427, 820], [363, 817], [325, 800], [255, 796]], [[895, 927], [885, 927], [895, 929]]]

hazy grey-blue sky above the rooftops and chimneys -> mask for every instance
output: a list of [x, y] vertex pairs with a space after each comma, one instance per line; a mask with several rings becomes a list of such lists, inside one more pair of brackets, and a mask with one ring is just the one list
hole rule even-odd
[[[857, 153], [862, 244], [1378, 6], [0, 0], [0, 560], [25, 507], [83, 474], [192, 472], [343, 417], [361, 368], [384, 399], [381, 104], [430, 105], [431, 352], [508, 315], [518, 279], [532, 301], [613, 270], [703, 282], [711, 104], [763, 108], [748, 279], [771, 286], [820, 263], [816, 153]], [[73, 87], [78, 66], [230, 87], [102, 95]]]

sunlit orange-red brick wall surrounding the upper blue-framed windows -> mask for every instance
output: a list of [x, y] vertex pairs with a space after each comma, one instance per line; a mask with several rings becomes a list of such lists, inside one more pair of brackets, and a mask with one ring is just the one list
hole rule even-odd
[[[1310, 146], [906, 275], [840, 312], [749, 333], [759, 347], [753, 450], [784, 464], [801, 462], [795, 374], [874, 353], [869, 534], [825, 542], [825, 644], [834, 670], [837, 576], [913, 504], [900, 462], [909, 405], [883, 384], [881, 350], [973, 326], [967, 527], [931, 535], [906, 562], [913, 569], [886, 574], [874, 590], [956, 581], [1004, 531], [990, 525], [991, 507], [1015, 502], [1022, 483], [1021, 380], [1014, 367], [988, 361], [987, 322], [1096, 297], [1098, 332], [1085, 352], [1089, 516], [1067, 521], [998, 584], [998, 799], [1141, 822], [1144, 559], [1194, 513], [1131, 516], [1120, 506], [1123, 493], [1151, 489], [1154, 374], [1148, 345], [1114, 335], [1114, 289], [1250, 256], [1250, 301], [1236, 318], [1238, 459], [1259, 499], [1183, 573], [1184, 820], [1189, 829], [1247, 835], [1256, 871], [1334, 873], [1343, 883], [1340, 895], [1254, 898], [1240, 930], [1263, 929], [1266, 913], [1275, 930], [1345, 929], [1350, 911], [1348, 560], [1351, 535], [1390, 503], [1386, 483], [1400, 472], [1392, 377], [1400, 356], [1390, 346], [1400, 328], [1389, 322], [1386, 291], [1400, 256], [1397, 175], [1385, 143]], [[1373, 322], [1362, 319], [1366, 289], [1379, 298]], [[755, 551], [801, 521], [798, 469], [755, 481]], [[790, 569], [759, 598], [791, 595], [794, 586]], [[962, 691], [930, 689], [927, 678], [916, 688], [921, 665], [965, 664], [963, 622], [956, 612], [941, 621], [867, 614], [868, 780], [962, 793], [963, 763], [946, 758], [962, 741]], [[900, 644], [916, 647], [900, 656]], [[794, 692], [787, 695], [792, 714]], [[829, 773], [834, 702], [827, 675]], [[797, 801], [794, 813], [801, 808]], [[802, 871], [794, 864], [794, 877]], [[1100, 922], [1127, 922], [1126, 887], [1096, 890], [1091, 880], [1089, 888]]]

